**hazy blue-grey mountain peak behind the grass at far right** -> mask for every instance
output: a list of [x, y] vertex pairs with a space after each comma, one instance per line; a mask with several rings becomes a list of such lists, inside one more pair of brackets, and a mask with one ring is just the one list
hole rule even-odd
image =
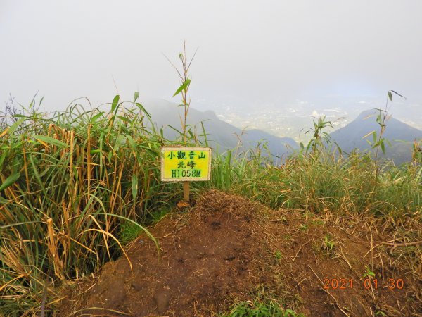
[[[332, 141], [337, 142], [343, 151], [352, 151], [356, 148], [360, 151], [371, 149], [366, 139], [372, 141], [372, 135], [366, 139], [363, 137], [373, 130], [379, 134], [380, 126], [376, 123], [377, 114], [378, 111], [374, 109], [363, 111], [345, 127], [331, 132]], [[422, 139], [422, 131], [392, 117], [385, 126], [383, 137], [391, 142], [391, 147], [385, 144], [385, 156], [382, 155], [380, 149], [381, 157], [392, 159], [396, 165], [411, 161], [412, 144], [415, 139]]]

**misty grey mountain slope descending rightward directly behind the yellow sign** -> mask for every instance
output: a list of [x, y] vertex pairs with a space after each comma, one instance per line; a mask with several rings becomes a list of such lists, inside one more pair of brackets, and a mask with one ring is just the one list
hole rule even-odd
[[[163, 127], [165, 137], [174, 139], [179, 136], [177, 131], [168, 126], [181, 130], [179, 116], [183, 116], [183, 107], [178, 107], [177, 104], [163, 99], [143, 101], [143, 106], [151, 114], [157, 127]], [[293, 149], [298, 149], [298, 144], [290, 137], [276, 137], [258, 129], [241, 130], [220, 120], [213, 111], [198, 111], [190, 108], [187, 124], [193, 127], [196, 135], [203, 134], [201, 122], [208, 134], [207, 140], [210, 147], [219, 152], [233, 149], [239, 142], [242, 144], [240, 151], [256, 148], [257, 142], [267, 142], [270, 153], [279, 157], [286, 156]], [[204, 138], [200, 137], [200, 140], [203, 141]]]

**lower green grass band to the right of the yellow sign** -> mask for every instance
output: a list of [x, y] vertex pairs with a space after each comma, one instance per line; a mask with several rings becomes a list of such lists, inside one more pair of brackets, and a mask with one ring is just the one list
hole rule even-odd
[[375, 162], [369, 155], [343, 156], [324, 147], [318, 156], [302, 150], [282, 166], [274, 166], [261, 153], [244, 153], [236, 159], [231, 159], [231, 151], [217, 156], [209, 186], [274, 209], [422, 219], [422, 166], [416, 161], [383, 166], [375, 178]]

